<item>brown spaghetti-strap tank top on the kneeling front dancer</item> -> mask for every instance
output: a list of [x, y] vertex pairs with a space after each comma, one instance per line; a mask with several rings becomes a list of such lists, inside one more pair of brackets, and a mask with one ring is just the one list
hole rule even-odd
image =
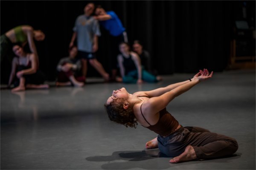
[[[143, 118], [145, 119], [141, 110], [141, 106], [142, 105], [140, 105], [140, 112]], [[179, 122], [168, 111], [166, 111], [166, 108], [161, 110], [159, 113], [160, 113], [159, 120], [155, 125], [150, 125], [150, 123], [148, 123], [148, 121], [145, 119], [148, 125], [150, 125], [146, 128], [154, 131], [160, 136], [163, 136], [163, 137], [169, 136], [171, 133], [173, 133], [176, 130], [176, 128], [179, 125]]]

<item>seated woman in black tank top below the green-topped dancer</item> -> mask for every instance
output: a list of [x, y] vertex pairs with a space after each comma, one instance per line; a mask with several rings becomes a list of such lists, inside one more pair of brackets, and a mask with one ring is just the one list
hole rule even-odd
[[26, 53], [18, 44], [15, 44], [12, 50], [17, 56], [12, 60], [12, 71], [8, 83], [10, 87], [15, 80], [15, 88], [12, 92], [24, 91], [26, 88], [49, 88], [49, 85], [43, 84], [45, 76], [38, 70], [35, 54]]

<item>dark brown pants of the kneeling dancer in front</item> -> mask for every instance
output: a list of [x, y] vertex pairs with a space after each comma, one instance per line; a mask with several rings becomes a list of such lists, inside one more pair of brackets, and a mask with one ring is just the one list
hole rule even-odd
[[201, 127], [180, 127], [167, 137], [157, 137], [159, 150], [170, 157], [180, 155], [191, 145], [197, 159], [232, 155], [238, 149], [236, 139], [209, 132]]

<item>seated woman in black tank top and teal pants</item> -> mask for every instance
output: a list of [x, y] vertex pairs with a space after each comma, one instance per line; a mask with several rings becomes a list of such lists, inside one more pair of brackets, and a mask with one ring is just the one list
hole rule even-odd
[[121, 42], [119, 45], [119, 50], [121, 54], [117, 56], [120, 74], [122, 81], [124, 83], [138, 83], [141, 84], [145, 82], [158, 82], [161, 80], [161, 77], [148, 73], [145, 71], [140, 64], [140, 57], [138, 54], [130, 51], [128, 43]]

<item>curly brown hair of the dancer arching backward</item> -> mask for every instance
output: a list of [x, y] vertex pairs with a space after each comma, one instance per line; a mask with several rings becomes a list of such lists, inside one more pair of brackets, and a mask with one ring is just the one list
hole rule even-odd
[[113, 99], [110, 104], [105, 104], [108, 117], [111, 121], [125, 125], [125, 127], [136, 128], [138, 123], [134, 116], [134, 112], [131, 106], [127, 109], [123, 108], [123, 103], [125, 100], [123, 98]]

